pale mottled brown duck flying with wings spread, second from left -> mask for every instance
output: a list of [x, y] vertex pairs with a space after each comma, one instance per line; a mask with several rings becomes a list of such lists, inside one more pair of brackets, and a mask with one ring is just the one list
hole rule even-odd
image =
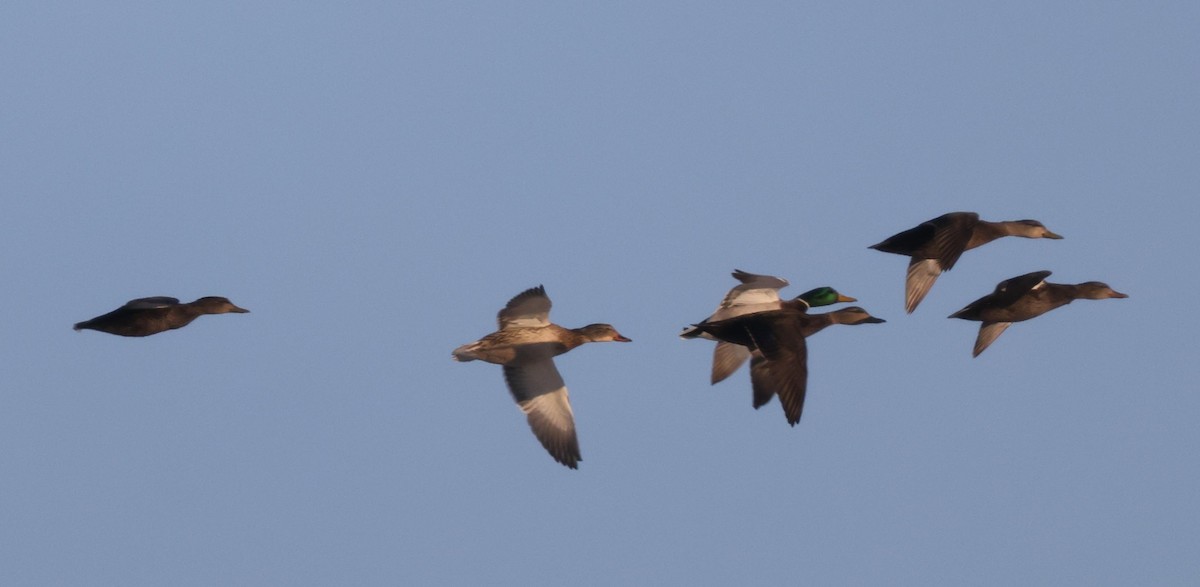
[[611, 324], [563, 328], [550, 322], [550, 297], [542, 286], [514, 297], [497, 316], [499, 330], [451, 353], [460, 363], [502, 365], [504, 381], [526, 414], [534, 437], [559, 463], [576, 469], [583, 460], [575, 414], [554, 357], [588, 342], [631, 342]]

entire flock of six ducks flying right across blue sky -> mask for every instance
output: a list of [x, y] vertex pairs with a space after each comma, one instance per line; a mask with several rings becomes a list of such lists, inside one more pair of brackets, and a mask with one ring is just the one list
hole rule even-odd
[[[872, 245], [882, 252], [911, 257], [905, 281], [905, 311], [912, 313], [934, 282], [958, 262], [964, 251], [1002, 236], [1062, 239], [1034, 220], [989, 222], [974, 212], [950, 212]], [[1105, 283], [1050, 283], [1050, 271], [1033, 271], [1000, 282], [992, 293], [972, 301], [950, 318], [980, 322], [973, 355], [978, 357], [1014, 322], [1042, 316], [1078, 299], [1128, 298]], [[757, 409], [778, 396], [787, 423], [794, 426], [804, 411], [808, 389], [806, 339], [833, 324], [878, 324], [882, 318], [850, 306], [824, 313], [812, 307], [857, 301], [832, 287], [818, 287], [784, 300], [779, 290], [787, 280], [734, 270], [740, 282], [730, 289], [716, 311], [683, 330], [683, 339], [716, 341], [712, 383], [733, 375], [750, 361], [752, 406]], [[582, 460], [575, 417], [563, 376], [553, 358], [587, 342], [630, 342], [610, 324], [563, 328], [550, 322], [550, 298], [542, 286], [526, 289], [500, 310], [499, 329], [454, 349], [456, 361], [481, 360], [503, 366], [504, 381], [526, 414], [534, 436], [550, 455], [570, 468]], [[203, 315], [245, 313], [226, 298], [208, 297], [181, 304], [175, 298], [132, 300], [103, 316], [80, 322], [90, 329], [120, 336], [149, 336], [182, 328]]]

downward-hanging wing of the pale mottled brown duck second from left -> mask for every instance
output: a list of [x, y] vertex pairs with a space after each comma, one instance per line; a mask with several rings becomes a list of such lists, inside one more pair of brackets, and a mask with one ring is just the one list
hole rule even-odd
[[554, 361], [546, 358], [504, 366], [504, 381], [521, 412], [524, 412], [533, 436], [556, 461], [578, 468], [580, 441], [575, 436], [571, 402]]

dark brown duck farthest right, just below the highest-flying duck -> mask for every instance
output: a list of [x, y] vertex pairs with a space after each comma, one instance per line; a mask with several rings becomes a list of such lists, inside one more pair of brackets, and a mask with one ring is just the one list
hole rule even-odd
[[1050, 283], [1050, 271], [1018, 275], [996, 284], [996, 289], [952, 313], [950, 318], [982, 322], [971, 357], [979, 357], [1014, 322], [1037, 318], [1075, 300], [1106, 300], [1128, 295], [1100, 281]]

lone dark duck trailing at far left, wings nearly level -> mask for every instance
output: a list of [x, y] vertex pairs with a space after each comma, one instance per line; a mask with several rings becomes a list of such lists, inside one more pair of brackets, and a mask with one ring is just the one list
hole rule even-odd
[[250, 310], [238, 307], [228, 298], [216, 295], [200, 298], [187, 304], [180, 304], [175, 298], [160, 295], [130, 300], [112, 312], [77, 323], [74, 329], [100, 330], [120, 336], [150, 336], [164, 330], [184, 328], [206, 313], [229, 312], [246, 313]]

